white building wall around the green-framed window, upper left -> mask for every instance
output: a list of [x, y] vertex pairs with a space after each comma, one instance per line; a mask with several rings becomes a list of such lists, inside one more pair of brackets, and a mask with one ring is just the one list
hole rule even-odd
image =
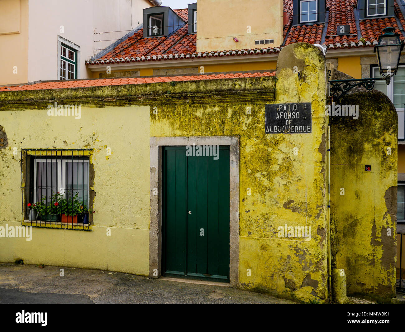
[[147, 0], [29, 0], [28, 81], [59, 79], [61, 38], [79, 47], [77, 78], [91, 78], [84, 61], [132, 29], [131, 4], [135, 29]]

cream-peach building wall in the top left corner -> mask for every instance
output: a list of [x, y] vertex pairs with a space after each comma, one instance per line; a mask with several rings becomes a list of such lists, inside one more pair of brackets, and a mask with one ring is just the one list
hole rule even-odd
[[0, 50], [2, 51], [0, 85], [26, 83], [28, 82], [28, 0], [1, 1], [0, 22]]

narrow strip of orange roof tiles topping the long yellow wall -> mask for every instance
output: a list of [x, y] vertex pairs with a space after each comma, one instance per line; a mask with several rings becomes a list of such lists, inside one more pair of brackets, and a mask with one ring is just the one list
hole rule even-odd
[[130, 78], [104, 78], [104, 79], [80, 79], [74, 81], [52, 81], [35, 84], [23, 84], [19, 86], [0, 86], [0, 92], [23, 91], [23, 90], [49, 90], [67, 88], [88, 88], [92, 86], [114, 86], [126, 84], [163, 83], [172, 81], [201, 81], [206, 79], [230, 79], [246, 77], [269, 77], [275, 72], [252, 72], [252, 73], [223, 73], [211, 75], [168, 76], [168, 77], [130, 77]]

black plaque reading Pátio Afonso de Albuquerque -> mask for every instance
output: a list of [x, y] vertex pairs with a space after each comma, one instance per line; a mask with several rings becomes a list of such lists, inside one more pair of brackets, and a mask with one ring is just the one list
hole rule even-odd
[[266, 134], [306, 134], [312, 131], [311, 103], [266, 104]]

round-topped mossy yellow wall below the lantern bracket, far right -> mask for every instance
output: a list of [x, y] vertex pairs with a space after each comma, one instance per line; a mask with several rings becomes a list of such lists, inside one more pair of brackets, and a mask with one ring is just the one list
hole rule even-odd
[[377, 90], [357, 90], [335, 103], [358, 105], [359, 116], [330, 116], [334, 264], [345, 270], [348, 294], [390, 302], [396, 282], [398, 118]]

